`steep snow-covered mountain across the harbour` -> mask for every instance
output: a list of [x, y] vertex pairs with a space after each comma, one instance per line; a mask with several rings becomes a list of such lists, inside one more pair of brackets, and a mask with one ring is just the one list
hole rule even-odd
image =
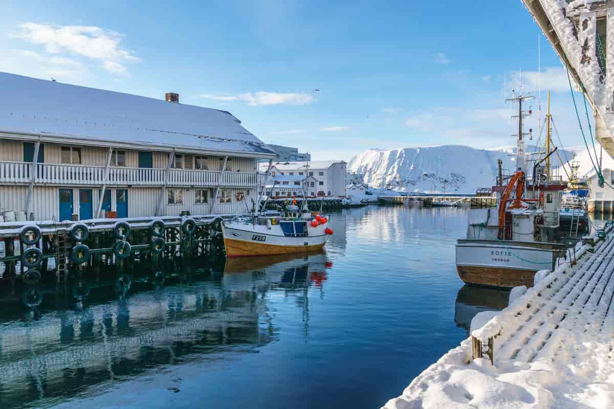
[[[535, 151], [534, 147], [527, 151]], [[373, 188], [386, 186], [396, 191], [422, 193], [473, 194], [478, 188], [494, 185], [498, 167], [503, 161], [508, 173], [515, 169], [513, 147], [475, 149], [463, 145], [441, 145], [424, 148], [370, 149], [352, 158], [349, 172], [363, 174]], [[572, 151], [559, 151], [571, 159]], [[558, 159], [553, 158], [553, 164]]]

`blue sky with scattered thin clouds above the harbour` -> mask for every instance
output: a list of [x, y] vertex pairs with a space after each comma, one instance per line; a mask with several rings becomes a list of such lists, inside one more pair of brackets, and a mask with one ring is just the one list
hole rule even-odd
[[[519, 0], [0, 7], [0, 71], [156, 98], [176, 91], [313, 159], [513, 145], [504, 78], [518, 88], [522, 69], [524, 91], [537, 88], [539, 31]], [[562, 142], [580, 145], [567, 77], [543, 36], [541, 52]], [[528, 123], [537, 129], [537, 115]]]

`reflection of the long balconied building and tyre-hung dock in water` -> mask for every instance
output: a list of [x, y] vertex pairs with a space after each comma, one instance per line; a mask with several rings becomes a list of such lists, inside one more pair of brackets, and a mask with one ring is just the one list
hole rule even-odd
[[330, 262], [310, 253], [166, 267], [84, 271], [60, 292], [3, 286], [0, 407], [47, 405], [165, 365], [256, 351], [279, 338], [270, 292], [295, 300], [308, 332], [307, 290], [323, 296]]

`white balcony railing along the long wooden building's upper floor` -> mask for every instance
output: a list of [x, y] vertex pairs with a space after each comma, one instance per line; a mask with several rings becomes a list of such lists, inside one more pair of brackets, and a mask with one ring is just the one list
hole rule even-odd
[[[32, 164], [0, 161], [0, 183], [29, 183]], [[41, 163], [36, 165], [37, 185], [94, 185], [104, 183], [104, 166]], [[220, 176], [214, 170], [171, 169], [168, 186], [217, 186]], [[165, 169], [110, 167], [108, 186], [163, 186]], [[224, 172], [222, 186], [249, 186], [256, 182], [252, 172]]]

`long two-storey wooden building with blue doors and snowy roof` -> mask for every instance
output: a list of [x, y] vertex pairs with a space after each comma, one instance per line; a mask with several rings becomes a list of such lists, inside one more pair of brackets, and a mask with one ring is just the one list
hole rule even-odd
[[[35, 220], [244, 213], [276, 153], [231, 113], [0, 72], [0, 209]], [[113, 215], [113, 213], [111, 213]]]

